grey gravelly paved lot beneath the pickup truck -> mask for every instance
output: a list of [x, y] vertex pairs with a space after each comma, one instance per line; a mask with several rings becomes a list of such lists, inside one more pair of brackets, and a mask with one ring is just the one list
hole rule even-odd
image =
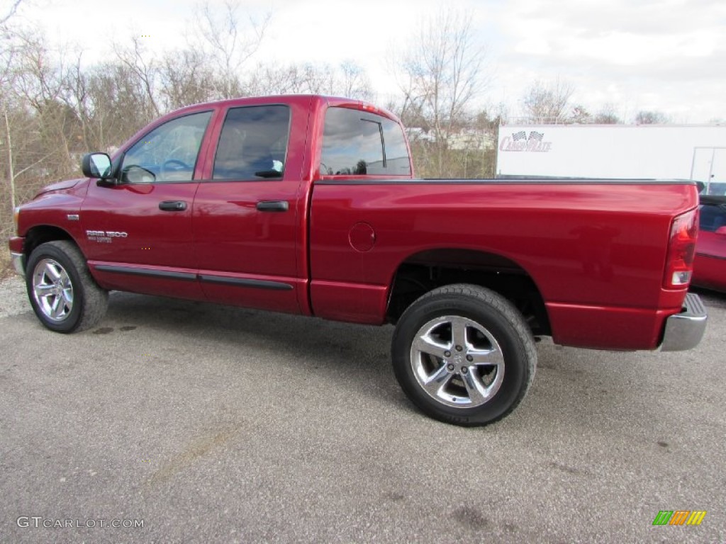
[[461, 429], [401, 393], [391, 327], [113, 293], [62, 335], [0, 294], [2, 543], [726, 541], [725, 296], [690, 352], [540, 343], [520, 407]]

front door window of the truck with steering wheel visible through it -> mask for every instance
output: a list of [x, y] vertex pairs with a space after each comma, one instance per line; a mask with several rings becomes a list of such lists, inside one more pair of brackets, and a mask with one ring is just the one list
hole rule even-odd
[[123, 156], [121, 181], [128, 184], [192, 181], [212, 112], [176, 118], [137, 141]]

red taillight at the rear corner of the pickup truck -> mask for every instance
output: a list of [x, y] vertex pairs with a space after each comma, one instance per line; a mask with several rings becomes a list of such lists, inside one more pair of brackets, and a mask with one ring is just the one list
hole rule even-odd
[[693, 257], [696, 255], [698, 236], [698, 209], [678, 215], [671, 226], [668, 244], [666, 275], [663, 284], [666, 289], [687, 286], [693, 273]]

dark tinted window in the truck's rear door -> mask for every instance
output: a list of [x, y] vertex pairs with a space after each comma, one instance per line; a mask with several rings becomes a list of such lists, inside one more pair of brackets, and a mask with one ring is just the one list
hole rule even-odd
[[249, 181], [282, 178], [290, 108], [236, 107], [227, 112], [214, 157], [214, 179]]

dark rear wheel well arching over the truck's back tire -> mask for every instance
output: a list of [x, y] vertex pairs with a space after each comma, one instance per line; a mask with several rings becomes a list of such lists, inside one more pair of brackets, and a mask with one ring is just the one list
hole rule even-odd
[[418, 297], [449, 284], [474, 284], [492, 289], [515, 305], [535, 335], [550, 335], [542, 294], [517, 263], [492, 253], [433, 250], [412, 255], [393, 279], [386, 318], [396, 323]]

